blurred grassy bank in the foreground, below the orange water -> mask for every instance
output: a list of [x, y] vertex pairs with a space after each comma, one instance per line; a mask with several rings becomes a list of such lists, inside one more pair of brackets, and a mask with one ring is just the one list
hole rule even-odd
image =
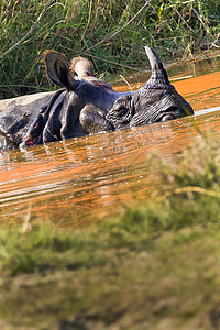
[[0, 231], [7, 329], [219, 329], [220, 150], [202, 142], [122, 217]]

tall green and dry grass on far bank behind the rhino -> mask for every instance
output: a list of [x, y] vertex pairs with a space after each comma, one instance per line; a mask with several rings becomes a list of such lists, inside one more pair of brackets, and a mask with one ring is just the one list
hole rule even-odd
[[43, 52], [90, 57], [98, 74], [145, 67], [143, 47], [194, 56], [219, 47], [219, 0], [2, 0], [0, 98], [48, 88]]

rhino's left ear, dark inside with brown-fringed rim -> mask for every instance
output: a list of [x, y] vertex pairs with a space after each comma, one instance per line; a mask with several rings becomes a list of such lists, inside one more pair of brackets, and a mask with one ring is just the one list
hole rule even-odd
[[66, 87], [68, 90], [75, 89], [78, 86], [78, 81], [74, 79], [69, 70], [69, 63], [62, 53], [46, 51], [44, 63], [46, 74], [54, 84]]

